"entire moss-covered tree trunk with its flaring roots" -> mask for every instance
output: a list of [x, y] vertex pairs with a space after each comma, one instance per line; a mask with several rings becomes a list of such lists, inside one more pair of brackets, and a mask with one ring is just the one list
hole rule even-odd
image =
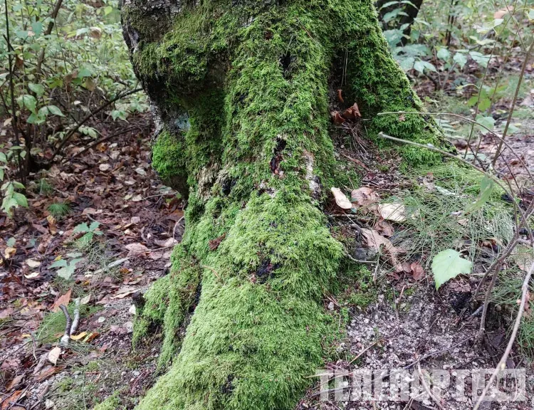
[[322, 299], [345, 258], [320, 209], [344, 177], [335, 90], [369, 138], [439, 144], [436, 127], [376, 115], [422, 105], [372, 0], [125, 0], [122, 20], [157, 114], [153, 166], [188, 198], [171, 273], [138, 310], [134, 342], [162, 325], [172, 362], [138, 409], [291, 409], [333, 337]]

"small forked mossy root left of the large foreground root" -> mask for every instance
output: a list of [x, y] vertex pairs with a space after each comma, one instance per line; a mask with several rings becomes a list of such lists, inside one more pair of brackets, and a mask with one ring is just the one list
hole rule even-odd
[[134, 347], [145, 340], [152, 327], [163, 327], [159, 369], [167, 367], [178, 352], [184, 322], [194, 310], [199, 296], [200, 272], [198, 264], [187, 256], [182, 246], [177, 246], [172, 253], [171, 273], [152, 285], [144, 296], [144, 305], [137, 312], [132, 337]]

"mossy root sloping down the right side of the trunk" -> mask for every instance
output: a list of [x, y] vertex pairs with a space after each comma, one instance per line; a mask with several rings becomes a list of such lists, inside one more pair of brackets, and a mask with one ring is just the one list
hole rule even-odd
[[[372, 118], [366, 126], [368, 136], [376, 137], [378, 132], [385, 132], [397, 138], [449, 149], [434, 120], [428, 116], [377, 115], [379, 112], [422, 112], [424, 107], [389, 52], [372, 3], [349, 1], [341, 16], [349, 39], [339, 51], [340, 55], [347, 56], [350, 85], [347, 91], [357, 100], [362, 115]], [[400, 149], [406, 162], [412, 166], [441, 160], [440, 154], [428, 149], [412, 145], [404, 145]]]

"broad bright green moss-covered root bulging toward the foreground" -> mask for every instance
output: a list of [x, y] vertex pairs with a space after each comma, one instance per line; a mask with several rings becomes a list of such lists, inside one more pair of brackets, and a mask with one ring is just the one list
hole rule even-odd
[[208, 258], [216, 270], [204, 269], [179, 356], [138, 409], [290, 409], [333, 334], [320, 295], [341, 257], [309, 201], [251, 199]]

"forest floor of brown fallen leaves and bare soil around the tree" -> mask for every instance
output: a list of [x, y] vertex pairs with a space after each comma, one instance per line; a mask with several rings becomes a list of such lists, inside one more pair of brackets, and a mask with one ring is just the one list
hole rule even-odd
[[[508, 137], [526, 166], [510, 151], [496, 164], [501, 177], [515, 179], [521, 186], [528, 180], [527, 167], [534, 172], [532, 73], [530, 66], [518, 106], [520, 131]], [[436, 105], [436, 111], [472, 115], [464, 95], [444, 95], [430, 89], [427, 83], [417, 89], [429, 110]], [[503, 98], [493, 107], [497, 126], [506, 122], [510, 102]], [[132, 409], [158, 375], [158, 330], [145, 347], [135, 351], [131, 347], [134, 300], [169, 268], [172, 246], [181, 238], [184, 204], [159, 182], [150, 167], [150, 118], [138, 116], [130, 122], [139, 125], [137, 131], [103, 142], [75, 158], [73, 155], [90, 141], [82, 136], [73, 140], [66, 152], [70, 159], [53, 166], [46, 177], [35, 177], [28, 186], [29, 209], [18, 211], [14, 219], [0, 219], [4, 256], [0, 273], [1, 410], [90, 409], [109, 396], [116, 398], [110, 401], [110, 409]], [[449, 125], [466, 135], [466, 129], [461, 129], [465, 125]], [[465, 141], [455, 143], [465, 149]], [[357, 149], [350, 146], [346, 139], [337, 141], [337, 154], [356, 164], [362, 175], [360, 186], [381, 201], [400, 199], [408, 208], [413, 204], [409, 201], [422, 199], [407, 193], [414, 185], [423, 186], [424, 198], [434, 201], [432, 212], [449, 218], [454, 209], [435, 208], [435, 204], [470, 200], [468, 181], [444, 188], [443, 173], [408, 175], [399, 168], [394, 152], [378, 157], [372, 144]], [[496, 142], [490, 136], [482, 137], [480, 149], [491, 158]], [[524, 189], [523, 194], [524, 201], [532, 200], [532, 191], [529, 194]], [[449, 196], [452, 198], [447, 200]], [[47, 211], [51, 204], [68, 207], [63, 215], [56, 209], [53, 216]], [[481, 343], [476, 342], [480, 312], [469, 300], [483, 275], [481, 266], [496, 258], [498, 238], [478, 241], [473, 275], [455, 278], [436, 291], [426, 268], [430, 255], [403, 255], [399, 261], [402, 269], [393, 272], [392, 255], [371, 252], [362, 240], [362, 228], [374, 229], [399, 248], [399, 243], [406, 247], [414, 238], [436, 241], [436, 237], [441, 239], [439, 246], [444, 246], [463, 232], [458, 229], [466, 228], [460, 220], [455, 228], [447, 228], [449, 231], [432, 231], [441, 229], [436, 218], [434, 225], [426, 226], [430, 231], [424, 232], [384, 221], [372, 212], [344, 215], [334, 201], [325, 211], [333, 233], [348, 244], [353, 257], [378, 261], [365, 264], [367, 268], [360, 269], [357, 283], [347, 285], [344, 293], [325, 299], [325, 308], [339, 317], [340, 331], [346, 331], [345, 339], [336, 347], [337, 359], [325, 369], [352, 372], [358, 368], [407, 367], [413, 374], [424, 369], [495, 367], [506, 345], [513, 310], [508, 302], [515, 303], [516, 289], [501, 289], [502, 298], [496, 296], [498, 300], [488, 314], [488, 334]], [[496, 235], [499, 232], [497, 229]], [[471, 241], [469, 236], [461, 239], [464, 245]], [[511, 275], [514, 272], [511, 270]], [[515, 279], [511, 277], [512, 282]], [[81, 313], [78, 331], [68, 346], [58, 349], [66, 326], [59, 305], [68, 305], [73, 315], [76, 298], [80, 298]], [[532, 398], [534, 379], [528, 350], [528, 346], [516, 344], [509, 365], [527, 369], [527, 396]], [[471, 408], [469, 402], [452, 400], [450, 389], [433, 401], [362, 404], [349, 400], [344, 404], [333, 399], [319, 401], [318, 387], [308, 391], [298, 409]], [[531, 406], [534, 403], [525, 401], [502, 407], [486, 404], [483, 409]]]

